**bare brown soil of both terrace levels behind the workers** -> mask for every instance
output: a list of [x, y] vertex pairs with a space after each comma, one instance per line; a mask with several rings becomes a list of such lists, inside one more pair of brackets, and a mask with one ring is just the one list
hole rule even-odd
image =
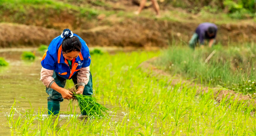
[[[112, 4], [113, 11], [116, 8], [123, 8], [123, 16], [118, 13], [106, 16], [102, 12], [98, 17], [88, 19], [80, 16], [78, 11], [63, 11], [60, 14], [54, 9], [46, 11], [43, 8], [31, 8], [23, 17], [14, 18], [13, 12], [5, 11], [0, 21], [19, 24], [0, 23], [0, 47], [48, 45], [66, 28], [80, 35], [90, 46], [166, 47], [173, 41], [187, 44], [198, 24], [205, 22], [199, 14], [176, 15], [185, 12], [183, 10], [161, 11], [163, 17], [154, 19], [152, 8], [143, 10], [144, 13], [152, 10], [149, 15], [144, 14], [144, 17], [133, 15], [132, 12], [136, 11], [138, 6], [132, 5], [128, 0], [108, 4]], [[125, 14], [130, 16], [124, 16]], [[174, 20], [165, 16], [170, 16]], [[211, 22], [216, 21], [209, 19]], [[255, 23], [240, 21], [218, 23], [217, 26], [217, 42], [222, 45], [256, 41]]]

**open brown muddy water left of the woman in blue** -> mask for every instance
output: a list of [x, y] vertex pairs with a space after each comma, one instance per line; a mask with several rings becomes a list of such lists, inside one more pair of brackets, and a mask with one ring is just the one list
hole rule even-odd
[[[45, 92], [45, 86], [39, 80], [43, 52], [35, 53], [35, 61], [25, 61], [21, 59], [23, 51], [34, 50], [36, 49], [0, 50], [0, 57], [4, 57], [9, 63], [9, 66], [7, 67], [0, 67], [0, 136], [9, 136], [11, 134], [11, 128], [7, 124], [8, 121], [6, 117], [10, 114], [14, 100], [18, 101], [16, 102], [17, 111], [25, 112], [25, 110], [31, 109], [31, 107], [35, 108], [34, 111], [38, 111], [38, 107], [40, 107], [40, 109], [42, 107], [47, 108], [48, 95]], [[116, 51], [129, 52], [133, 49], [120, 50], [117, 48], [105, 48], [103, 50], [108, 51], [109, 53], [115, 53]], [[67, 84], [65, 88], [67, 88]], [[68, 109], [68, 105], [69, 101], [67, 100], [61, 102], [60, 111], [69, 111], [70, 109]], [[113, 107], [110, 105], [105, 106], [113, 110], [115, 110], [115, 108], [120, 109], [120, 107]], [[77, 112], [79, 111], [78, 108]], [[124, 115], [121, 112], [126, 111], [118, 110], [116, 115], [123, 118]], [[47, 113], [47, 111], [45, 113]], [[66, 116], [63, 115], [63, 117]]]

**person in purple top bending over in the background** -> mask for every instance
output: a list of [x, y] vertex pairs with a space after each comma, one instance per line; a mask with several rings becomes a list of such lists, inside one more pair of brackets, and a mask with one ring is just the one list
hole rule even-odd
[[218, 28], [214, 23], [205, 22], [199, 24], [196, 32], [193, 34], [189, 41], [189, 47], [195, 48], [199, 40], [199, 44], [201, 45], [201, 48], [203, 48], [204, 39], [209, 39], [209, 47], [212, 47], [215, 43], [217, 30]]

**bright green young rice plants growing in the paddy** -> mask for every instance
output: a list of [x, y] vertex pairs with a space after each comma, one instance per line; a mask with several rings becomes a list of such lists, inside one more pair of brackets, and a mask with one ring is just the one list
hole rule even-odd
[[[213, 100], [212, 91], [195, 96], [197, 89], [169, 86], [169, 79], [148, 77], [137, 66], [159, 52], [92, 55], [95, 97], [110, 108], [110, 118], [87, 119], [73, 111], [47, 117], [44, 108], [8, 113], [14, 135], [255, 135], [253, 106]], [[181, 89], [182, 87], [182, 89]], [[45, 93], [45, 92], [44, 92]], [[46, 98], [44, 98], [46, 99]], [[66, 101], [66, 100], [65, 100]], [[65, 115], [63, 115], [65, 114]]]

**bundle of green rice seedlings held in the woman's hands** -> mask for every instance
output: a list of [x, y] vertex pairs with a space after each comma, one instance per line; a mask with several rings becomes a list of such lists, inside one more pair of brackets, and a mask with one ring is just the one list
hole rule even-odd
[[105, 113], [105, 114], [108, 113], [107, 111], [109, 111], [109, 109], [106, 108], [105, 106], [97, 103], [96, 98], [94, 98], [92, 96], [75, 94], [77, 91], [75, 86], [73, 86], [72, 88], [68, 88], [68, 89], [73, 93], [72, 96], [74, 97], [74, 99], [71, 102], [73, 102], [74, 100], [77, 100], [81, 112], [85, 112], [87, 114], [87, 116], [93, 116], [95, 118], [104, 117], [103, 113]]

